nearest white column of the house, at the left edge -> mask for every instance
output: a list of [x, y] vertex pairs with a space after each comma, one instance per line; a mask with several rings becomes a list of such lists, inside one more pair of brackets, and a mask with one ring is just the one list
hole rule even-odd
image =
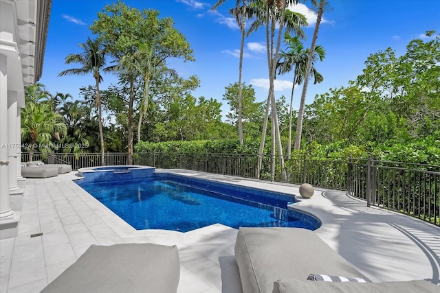
[[0, 218], [12, 217], [9, 202], [8, 58], [0, 54]]

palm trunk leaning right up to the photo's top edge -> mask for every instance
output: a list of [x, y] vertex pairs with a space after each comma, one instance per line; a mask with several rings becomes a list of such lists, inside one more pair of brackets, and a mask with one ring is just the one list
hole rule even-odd
[[305, 96], [307, 95], [307, 86], [309, 85], [311, 60], [313, 60], [313, 57], [314, 57], [316, 39], [318, 38], [318, 32], [319, 32], [319, 25], [321, 23], [322, 14], [324, 13], [324, 4], [325, 4], [325, 0], [320, 0], [319, 9], [318, 9], [318, 18], [316, 19], [314, 36], [311, 39], [309, 58], [307, 59], [307, 67], [305, 70], [303, 93], [301, 94], [300, 108], [298, 110], [298, 122], [296, 124], [296, 137], [295, 137], [295, 145], [294, 145], [295, 150], [299, 150], [300, 145], [301, 145], [301, 134], [303, 132]]

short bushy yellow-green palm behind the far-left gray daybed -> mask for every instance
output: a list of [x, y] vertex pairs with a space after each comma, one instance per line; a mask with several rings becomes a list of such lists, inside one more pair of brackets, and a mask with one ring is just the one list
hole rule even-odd
[[[47, 103], [26, 103], [21, 110], [21, 137], [30, 143], [29, 159], [32, 161], [38, 145], [52, 147], [52, 137], [67, 134], [63, 116], [56, 114]], [[43, 152], [46, 149], [41, 149]]]

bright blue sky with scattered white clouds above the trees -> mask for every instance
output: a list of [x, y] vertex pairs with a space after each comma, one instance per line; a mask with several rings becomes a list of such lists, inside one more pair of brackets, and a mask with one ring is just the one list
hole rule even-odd
[[[184, 78], [197, 75], [201, 86], [194, 91], [195, 97], [218, 99], [223, 103], [223, 113], [228, 105], [222, 100], [225, 86], [239, 80], [240, 32], [228, 10], [235, 1], [227, 0], [215, 12], [210, 10], [217, 0], [130, 0], [126, 5], [142, 10], [159, 10], [159, 17], [171, 17], [175, 28], [190, 43], [195, 62], [172, 60], [168, 67], [176, 69]], [[39, 82], [55, 94], [70, 93], [79, 97], [79, 88], [94, 84], [91, 75], [58, 77], [65, 69], [78, 67], [66, 65], [68, 54], [80, 53], [78, 44], [84, 43], [87, 36], [94, 38], [89, 25], [98, 18], [98, 12], [110, 0], [54, 0], [50, 17], [43, 76]], [[305, 3], [309, 7], [309, 3]], [[309, 27], [304, 31], [309, 47], [314, 32], [316, 14], [309, 12], [304, 4], [292, 10], [307, 14]], [[395, 49], [398, 56], [404, 54], [405, 47], [414, 38], [425, 38], [427, 30], [440, 32], [439, 0], [329, 0], [330, 10], [324, 14], [320, 25], [318, 45], [322, 45], [327, 57], [316, 67], [324, 76], [321, 84], [309, 83], [306, 104], [314, 101], [316, 94], [330, 88], [347, 86], [364, 69], [364, 62], [370, 54], [387, 47]], [[281, 45], [281, 49], [285, 45]], [[265, 53], [265, 32], [263, 27], [245, 39], [245, 58], [243, 60], [243, 82], [252, 84], [256, 90], [256, 100], [267, 97], [267, 57]], [[115, 75], [103, 74], [101, 89], [115, 84]], [[291, 74], [277, 77], [276, 97], [290, 97], [292, 89]], [[299, 107], [302, 87], [294, 93], [294, 108]]]

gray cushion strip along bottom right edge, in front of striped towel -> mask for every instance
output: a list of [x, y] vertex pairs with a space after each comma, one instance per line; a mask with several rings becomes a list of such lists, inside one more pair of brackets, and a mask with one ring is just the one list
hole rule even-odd
[[440, 286], [428, 281], [405, 281], [386, 283], [331, 283], [325, 281], [281, 280], [274, 283], [273, 293], [439, 293]]

